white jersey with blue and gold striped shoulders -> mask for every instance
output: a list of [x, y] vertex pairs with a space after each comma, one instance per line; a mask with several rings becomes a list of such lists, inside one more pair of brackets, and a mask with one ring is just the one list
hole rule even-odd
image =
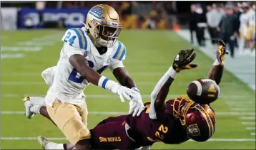
[[108, 48], [107, 53], [103, 55], [99, 54], [85, 28], [68, 29], [62, 41], [64, 41], [64, 45], [54, 71], [53, 83], [46, 95], [46, 105], [51, 106], [56, 99], [74, 105], [84, 103], [83, 92], [89, 82], [84, 80], [69, 63], [69, 57], [72, 55], [84, 55], [88, 60], [89, 67], [98, 73], [102, 73], [107, 68], [114, 70], [124, 67], [122, 60], [125, 59], [126, 48], [120, 41], [117, 41], [112, 48]]

